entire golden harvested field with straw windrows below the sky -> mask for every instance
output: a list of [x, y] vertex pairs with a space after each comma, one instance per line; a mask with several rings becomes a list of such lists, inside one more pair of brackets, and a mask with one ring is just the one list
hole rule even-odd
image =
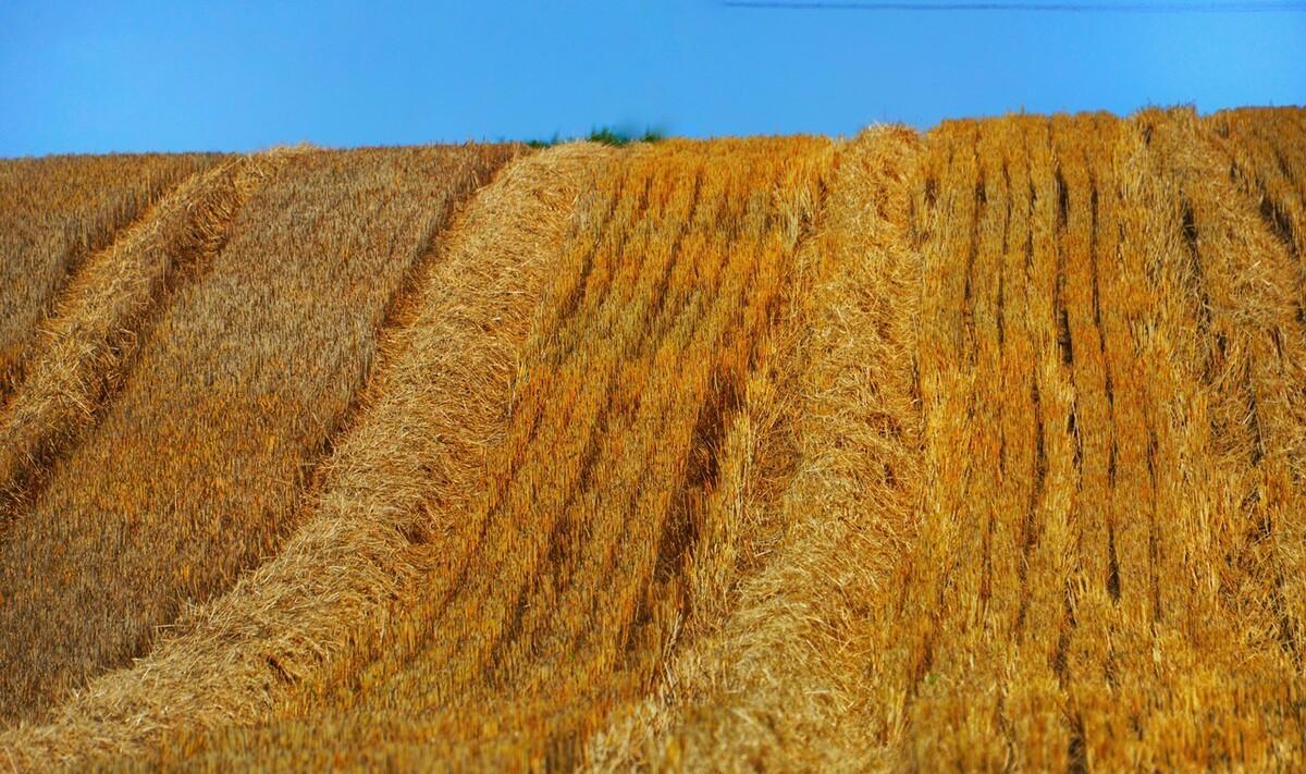
[[1306, 767], [1306, 111], [0, 163], [0, 767]]

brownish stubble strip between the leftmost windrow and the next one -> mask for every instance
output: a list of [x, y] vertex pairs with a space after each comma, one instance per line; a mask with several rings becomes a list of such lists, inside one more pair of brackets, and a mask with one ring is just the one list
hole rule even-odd
[[10, 718], [145, 655], [187, 603], [276, 554], [390, 307], [456, 205], [516, 150], [277, 162], [217, 260], [137, 335], [129, 379], [0, 545]]

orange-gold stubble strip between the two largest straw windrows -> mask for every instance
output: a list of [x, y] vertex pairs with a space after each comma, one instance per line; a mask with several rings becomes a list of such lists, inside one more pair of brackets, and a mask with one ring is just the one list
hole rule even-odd
[[[461, 518], [418, 532], [405, 614], [300, 716], [205, 757], [526, 769], [579, 760], [730, 570], [720, 454], [832, 161], [825, 140], [669, 141], [592, 183]], [[726, 526], [725, 530], [733, 527]], [[741, 544], [744, 543], [741, 540]], [[721, 562], [746, 557], [721, 554]], [[705, 614], [705, 613], [704, 613]], [[487, 723], [487, 719], [494, 719]]]

